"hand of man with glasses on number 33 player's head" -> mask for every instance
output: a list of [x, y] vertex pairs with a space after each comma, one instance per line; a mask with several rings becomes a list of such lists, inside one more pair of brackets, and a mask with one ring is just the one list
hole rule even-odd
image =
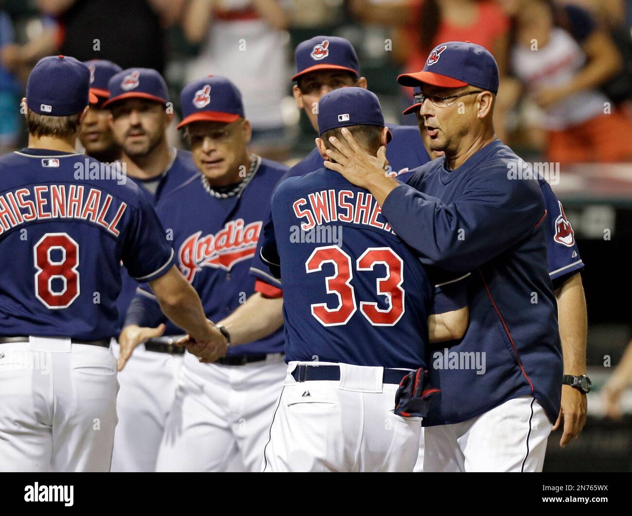
[[381, 205], [387, 195], [399, 185], [398, 181], [387, 173], [389, 162], [386, 159], [386, 147], [382, 145], [377, 151], [377, 156], [372, 156], [356, 142], [351, 131], [343, 128], [341, 132], [344, 142], [336, 137], [329, 138], [335, 150], [325, 151], [332, 160], [325, 161], [325, 167], [343, 175], [356, 187], [369, 190]]

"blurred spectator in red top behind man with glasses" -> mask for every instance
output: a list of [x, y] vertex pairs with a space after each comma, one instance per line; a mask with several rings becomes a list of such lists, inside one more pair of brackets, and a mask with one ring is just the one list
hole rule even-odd
[[[507, 65], [509, 19], [493, 0], [351, 0], [351, 10], [366, 23], [398, 29], [393, 45], [404, 70], [422, 70], [430, 51], [446, 41], [470, 41], [489, 50], [501, 73], [494, 110], [497, 136], [505, 139], [503, 75]], [[410, 106], [412, 89], [404, 105]]]

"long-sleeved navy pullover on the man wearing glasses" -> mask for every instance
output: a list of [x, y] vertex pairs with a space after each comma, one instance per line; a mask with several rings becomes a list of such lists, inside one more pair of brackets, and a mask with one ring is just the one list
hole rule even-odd
[[430, 364], [442, 393], [427, 425], [465, 421], [522, 395], [534, 395], [557, 419], [562, 353], [545, 204], [537, 181], [508, 177], [518, 159], [495, 140], [456, 170], [446, 169], [444, 157], [422, 166], [384, 201], [384, 216], [422, 262], [473, 271], [470, 326], [449, 351], [485, 353], [486, 372]]

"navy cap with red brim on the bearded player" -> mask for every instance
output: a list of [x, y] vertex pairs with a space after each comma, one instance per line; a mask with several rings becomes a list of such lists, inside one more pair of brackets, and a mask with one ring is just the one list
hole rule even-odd
[[152, 68], [128, 68], [112, 75], [107, 82], [110, 96], [103, 106], [124, 99], [149, 99], [166, 104], [169, 101], [167, 83]]

